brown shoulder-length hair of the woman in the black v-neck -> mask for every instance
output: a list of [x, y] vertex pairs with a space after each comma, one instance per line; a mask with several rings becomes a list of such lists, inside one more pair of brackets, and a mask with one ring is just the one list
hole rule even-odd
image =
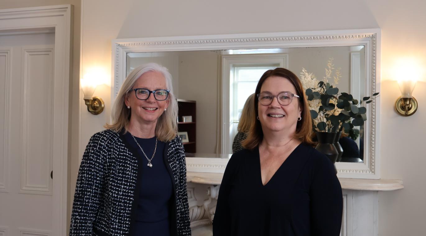
[[[301, 117], [302, 119], [297, 122], [296, 125], [296, 134], [294, 137], [296, 139], [299, 139], [300, 142], [303, 142], [307, 145], [314, 145], [314, 142], [311, 138], [312, 133], [312, 119], [311, 119], [311, 112], [309, 111], [308, 106], [308, 100], [306, 99], [304, 89], [302, 86], [302, 83], [300, 82], [299, 78], [291, 71], [285, 69], [285, 68], [275, 68], [273, 70], [266, 71], [262, 77], [260, 77], [259, 82], [256, 86], [255, 94], [260, 93], [260, 89], [262, 88], [263, 83], [266, 79], [268, 79], [271, 76], [278, 76], [283, 77], [288, 80], [294, 85], [294, 88], [296, 88], [296, 95], [299, 95], [299, 106], [302, 110]], [[256, 116], [259, 115], [259, 100], [257, 97], [253, 100], [254, 102], [254, 113]], [[260, 121], [258, 119], [253, 119], [253, 124], [250, 127], [250, 131], [248, 132], [247, 138], [242, 142], [242, 146], [244, 148], [247, 148], [249, 150], [253, 150], [257, 146], [259, 146], [260, 142], [262, 142], [263, 139], [263, 131], [262, 126], [260, 124]]]

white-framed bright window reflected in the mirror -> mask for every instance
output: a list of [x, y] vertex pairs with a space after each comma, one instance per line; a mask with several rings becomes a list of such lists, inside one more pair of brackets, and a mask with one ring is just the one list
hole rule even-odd
[[256, 90], [262, 74], [276, 67], [288, 67], [287, 54], [222, 56], [222, 154], [232, 154], [232, 142], [245, 101]]

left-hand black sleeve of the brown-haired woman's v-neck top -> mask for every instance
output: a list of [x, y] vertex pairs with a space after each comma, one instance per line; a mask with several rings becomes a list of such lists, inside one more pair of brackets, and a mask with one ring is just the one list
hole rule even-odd
[[229, 205], [229, 194], [231, 181], [236, 173], [236, 156], [231, 156], [223, 174], [222, 183], [219, 188], [216, 211], [213, 218], [213, 236], [231, 235], [231, 213]]

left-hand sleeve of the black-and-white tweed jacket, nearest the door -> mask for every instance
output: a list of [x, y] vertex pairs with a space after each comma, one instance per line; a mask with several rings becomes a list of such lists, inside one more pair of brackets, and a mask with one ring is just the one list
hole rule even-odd
[[72, 205], [70, 236], [92, 236], [93, 222], [100, 205], [105, 155], [100, 145], [100, 135], [90, 138], [81, 160]]

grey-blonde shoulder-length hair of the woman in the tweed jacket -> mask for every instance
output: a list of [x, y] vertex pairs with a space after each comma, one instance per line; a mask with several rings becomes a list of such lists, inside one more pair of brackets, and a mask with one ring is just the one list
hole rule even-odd
[[176, 123], [176, 117], [178, 116], [178, 102], [176, 101], [175, 94], [173, 93], [172, 75], [167, 68], [156, 63], [140, 65], [130, 72], [126, 80], [124, 80], [123, 85], [121, 85], [120, 91], [118, 91], [118, 95], [112, 105], [112, 123], [106, 124], [105, 128], [116, 132], [122, 132], [123, 134], [126, 134], [129, 131], [131, 112], [130, 109], [127, 109], [127, 106], [124, 103], [124, 98], [131, 94], [130, 92], [132, 91], [136, 80], [148, 71], [157, 71], [163, 74], [166, 79], [166, 89], [170, 90], [169, 96], [167, 97], [167, 100], [169, 100], [169, 107], [167, 108], [167, 111], [164, 111], [158, 118], [157, 125], [155, 127], [155, 135], [158, 140], [168, 142], [175, 138], [178, 131], [178, 125]]

